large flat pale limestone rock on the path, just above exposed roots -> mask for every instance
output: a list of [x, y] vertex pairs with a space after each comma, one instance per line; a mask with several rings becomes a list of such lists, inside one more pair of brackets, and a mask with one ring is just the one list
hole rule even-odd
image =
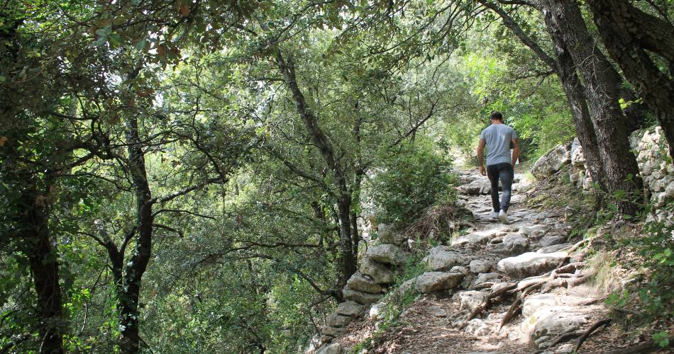
[[553, 270], [567, 258], [568, 254], [565, 252], [527, 252], [519, 256], [503, 258], [497, 263], [497, 269], [507, 273], [511, 278], [522, 278]]

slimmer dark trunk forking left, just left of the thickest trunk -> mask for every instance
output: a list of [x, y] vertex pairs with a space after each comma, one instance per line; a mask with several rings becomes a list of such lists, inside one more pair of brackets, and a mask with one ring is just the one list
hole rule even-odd
[[602, 190], [606, 190], [604, 185], [604, 171], [600, 162], [599, 147], [597, 147], [597, 137], [595, 136], [595, 127], [590, 118], [590, 111], [587, 110], [587, 101], [585, 100], [585, 88], [580, 83], [578, 75], [575, 72], [573, 58], [570, 56], [561, 35], [556, 32], [550, 33], [553, 40], [556, 59], [548, 55], [533, 38], [524, 33], [524, 30], [514, 21], [514, 19], [497, 4], [488, 0], [478, 0], [486, 8], [490, 8], [497, 13], [509, 30], [521, 40], [524, 45], [529, 47], [536, 56], [559, 77], [564, 93], [571, 109], [571, 117], [575, 125], [576, 135], [583, 149], [587, 169], [590, 171], [592, 180], [599, 183]]

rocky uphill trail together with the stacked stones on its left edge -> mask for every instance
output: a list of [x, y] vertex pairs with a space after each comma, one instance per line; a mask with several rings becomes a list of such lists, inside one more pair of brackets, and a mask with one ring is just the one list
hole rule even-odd
[[[593, 272], [585, 262], [587, 240], [568, 239], [564, 210], [528, 207], [535, 192], [521, 177], [515, 178], [512, 224], [504, 225], [492, 212], [486, 177], [460, 172], [459, 203], [474, 222], [449, 244], [431, 248], [426, 271], [399, 287], [388, 288], [409, 240], [379, 225], [344, 290], [348, 301], [328, 316], [309, 351], [611, 353], [629, 347], [607, 320], [605, 294], [587, 281]], [[386, 324], [387, 302], [404, 296], [414, 301]], [[369, 350], [358, 346], [363, 341], [372, 341]]]

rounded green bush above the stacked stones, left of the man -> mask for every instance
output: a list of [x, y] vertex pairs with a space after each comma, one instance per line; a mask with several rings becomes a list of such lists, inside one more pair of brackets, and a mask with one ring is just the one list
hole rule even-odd
[[368, 183], [377, 220], [407, 224], [426, 207], [453, 202], [456, 177], [447, 156], [422, 144], [387, 155]]

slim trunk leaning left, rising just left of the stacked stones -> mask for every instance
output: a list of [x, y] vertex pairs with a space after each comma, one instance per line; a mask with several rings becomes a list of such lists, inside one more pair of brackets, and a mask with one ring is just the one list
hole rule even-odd
[[311, 112], [311, 109], [306, 104], [304, 94], [297, 85], [297, 77], [295, 75], [294, 65], [291, 62], [286, 62], [283, 59], [280, 50], [275, 53], [278, 68], [283, 74], [283, 79], [286, 86], [292, 93], [292, 100], [297, 108], [297, 113], [304, 121], [307, 132], [311, 135], [311, 142], [319, 148], [321, 155], [326, 161], [328, 169], [333, 173], [334, 186], [337, 190], [337, 217], [339, 219], [339, 246], [340, 246], [340, 274], [338, 277], [338, 291], [346, 285], [346, 281], [355, 273], [357, 252], [354, 249], [358, 248], [358, 244], [353, 244], [351, 234], [351, 195], [347, 187], [346, 173], [341, 166], [333, 149], [332, 143], [328, 136], [321, 130], [316, 115]]

